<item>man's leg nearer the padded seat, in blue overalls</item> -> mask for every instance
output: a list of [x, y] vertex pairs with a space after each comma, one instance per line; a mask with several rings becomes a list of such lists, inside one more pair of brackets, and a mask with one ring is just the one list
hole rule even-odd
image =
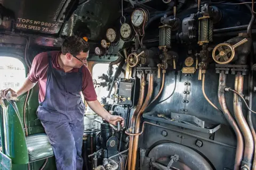
[[58, 170], [76, 169], [76, 146], [69, 123], [41, 121], [49, 136]]

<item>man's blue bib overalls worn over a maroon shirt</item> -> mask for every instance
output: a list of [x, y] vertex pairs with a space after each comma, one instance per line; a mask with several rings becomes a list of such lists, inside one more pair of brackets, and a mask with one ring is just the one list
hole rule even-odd
[[81, 170], [85, 111], [80, 95], [82, 67], [78, 72], [63, 72], [52, 67], [50, 53], [48, 61], [46, 94], [37, 116], [49, 136], [57, 169]]

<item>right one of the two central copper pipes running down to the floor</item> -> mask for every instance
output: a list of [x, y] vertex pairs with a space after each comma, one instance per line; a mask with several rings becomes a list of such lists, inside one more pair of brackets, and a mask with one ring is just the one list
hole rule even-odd
[[[147, 108], [150, 99], [152, 97], [153, 94], [153, 82], [154, 80], [154, 76], [153, 74], [149, 74], [149, 84], [148, 84], [148, 93], [145, 99], [145, 102], [143, 103], [139, 114], [137, 116], [136, 119], [136, 124], [135, 124], [135, 133], [139, 133], [140, 132], [140, 123], [141, 123], [141, 115], [143, 114], [143, 112], [145, 111], [145, 109]], [[136, 159], [137, 159], [137, 151], [138, 151], [138, 142], [139, 142], [139, 136], [135, 136], [134, 137], [134, 141], [133, 141], [133, 152], [132, 152], [132, 167], [131, 170], [135, 170], [135, 165], [136, 165]]]

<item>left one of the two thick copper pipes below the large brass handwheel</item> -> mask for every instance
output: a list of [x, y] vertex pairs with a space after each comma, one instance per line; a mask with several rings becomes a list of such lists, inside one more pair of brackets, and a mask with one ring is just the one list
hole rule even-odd
[[219, 103], [221, 106], [221, 109], [223, 111], [224, 116], [228, 120], [228, 123], [231, 125], [233, 130], [236, 133], [236, 157], [235, 157], [235, 165], [234, 170], [240, 169], [241, 162], [243, 159], [243, 153], [244, 153], [244, 141], [242, 133], [239, 129], [239, 127], [236, 124], [236, 120], [231, 116], [230, 111], [228, 110], [226, 99], [225, 99], [225, 86], [226, 86], [226, 79], [227, 75], [224, 73], [224, 71], [221, 71], [220, 78], [219, 78], [219, 90], [218, 90], [218, 98]]

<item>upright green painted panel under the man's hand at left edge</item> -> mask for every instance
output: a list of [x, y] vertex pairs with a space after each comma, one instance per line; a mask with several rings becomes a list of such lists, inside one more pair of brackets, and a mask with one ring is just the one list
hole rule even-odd
[[28, 164], [26, 137], [19, 110], [14, 101], [5, 100], [3, 107], [5, 153], [13, 164]]

